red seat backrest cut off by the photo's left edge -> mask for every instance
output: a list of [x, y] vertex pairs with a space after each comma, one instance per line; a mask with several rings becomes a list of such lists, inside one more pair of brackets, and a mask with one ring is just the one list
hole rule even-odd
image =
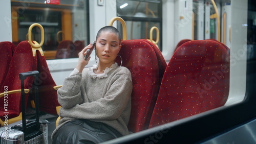
[[0, 42], [0, 87], [2, 87], [8, 73], [15, 48], [15, 45], [9, 41]]

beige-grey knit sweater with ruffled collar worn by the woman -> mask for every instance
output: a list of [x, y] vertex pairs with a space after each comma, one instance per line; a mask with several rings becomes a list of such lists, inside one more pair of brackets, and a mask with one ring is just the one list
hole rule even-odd
[[66, 78], [58, 89], [58, 102], [63, 117], [54, 130], [73, 119], [89, 119], [109, 125], [122, 135], [129, 134], [127, 125], [131, 114], [132, 77], [129, 69], [113, 64], [103, 76], [97, 77], [92, 68], [83, 69]]

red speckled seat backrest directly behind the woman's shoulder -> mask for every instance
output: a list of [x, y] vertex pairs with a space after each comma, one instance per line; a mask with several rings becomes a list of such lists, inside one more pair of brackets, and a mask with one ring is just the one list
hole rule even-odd
[[133, 80], [132, 111], [128, 128], [132, 132], [138, 132], [148, 128], [157, 99], [157, 57], [152, 46], [143, 40], [124, 40], [121, 44], [119, 55], [123, 60], [122, 66], [131, 71]]

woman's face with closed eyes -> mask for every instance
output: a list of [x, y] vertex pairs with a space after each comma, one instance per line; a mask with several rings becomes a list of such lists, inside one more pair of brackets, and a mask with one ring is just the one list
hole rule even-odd
[[114, 63], [121, 45], [116, 33], [103, 31], [96, 40], [95, 47], [99, 61], [109, 67]]

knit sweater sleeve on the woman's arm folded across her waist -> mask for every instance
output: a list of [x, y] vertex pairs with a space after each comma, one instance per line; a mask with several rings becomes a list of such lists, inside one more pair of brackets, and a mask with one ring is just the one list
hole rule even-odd
[[116, 74], [111, 79], [104, 98], [76, 104], [69, 109], [63, 107], [60, 109], [60, 116], [94, 120], [117, 119], [131, 99], [132, 87], [131, 75]]

